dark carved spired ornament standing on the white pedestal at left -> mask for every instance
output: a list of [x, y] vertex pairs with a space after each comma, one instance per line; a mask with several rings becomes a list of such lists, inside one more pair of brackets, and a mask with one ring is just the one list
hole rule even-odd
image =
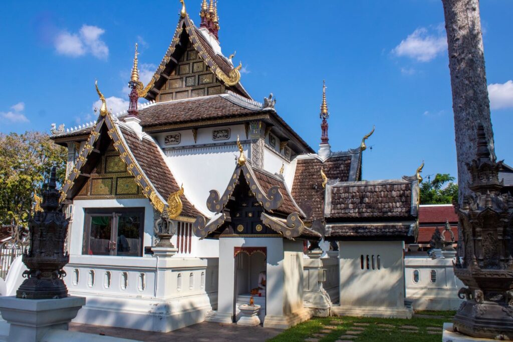
[[16, 297], [29, 299], [64, 298], [68, 289], [63, 267], [69, 262], [64, 253], [68, 220], [59, 211], [59, 192], [55, 185], [55, 168], [43, 193], [43, 211], [36, 212], [29, 225], [30, 248], [23, 254], [27, 279], [16, 291]]

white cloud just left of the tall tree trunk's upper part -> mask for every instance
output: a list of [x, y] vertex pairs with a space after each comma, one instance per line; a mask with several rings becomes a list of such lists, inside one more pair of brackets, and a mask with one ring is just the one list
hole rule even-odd
[[419, 62], [429, 62], [446, 49], [447, 38], [443, 34], [428, 34], [428, 30], [421, 27], [392, 49], [392, 53], [417, 59]]

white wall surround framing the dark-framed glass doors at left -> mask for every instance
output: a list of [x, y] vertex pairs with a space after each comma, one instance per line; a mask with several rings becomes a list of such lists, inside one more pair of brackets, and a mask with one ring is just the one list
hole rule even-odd
[[[153, 238], [153, 207], [146, 198], [137, 199], [75, 199], [70, 229], [70, 254], [81, 255], [84, 235], [84, 217], [87, 208], [144, 208], [143, 246], [151, 246]], [[144, 247], [143, 247], [144, 250]]]

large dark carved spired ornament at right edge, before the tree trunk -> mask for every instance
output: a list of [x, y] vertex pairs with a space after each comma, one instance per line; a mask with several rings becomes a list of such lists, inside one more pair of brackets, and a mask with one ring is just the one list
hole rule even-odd
[[501, 164], [491, 160], [480, 126], [477, 159], [467, 166], [473, 194], [457, 207], [464, 256], [455, 273], [468, 288], [458, 293], [466, 300], [454, 327], [473, 337], [513, 339], [513, 197], [501, 194]]

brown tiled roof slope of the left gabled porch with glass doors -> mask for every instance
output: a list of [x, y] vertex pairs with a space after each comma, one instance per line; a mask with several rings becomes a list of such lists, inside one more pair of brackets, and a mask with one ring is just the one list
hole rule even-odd
[[[171, 193], [180, 190], [159, 151], [159, 147], [146, 138], [140, 140], [134, 132], [121, 125], [119, 128], [135, 160], [164, 200], [167, 200]], [[182, 196], [181, 200], [183, 204], [182, 216], [195, 217], [200, 214], [185, 196]]]

